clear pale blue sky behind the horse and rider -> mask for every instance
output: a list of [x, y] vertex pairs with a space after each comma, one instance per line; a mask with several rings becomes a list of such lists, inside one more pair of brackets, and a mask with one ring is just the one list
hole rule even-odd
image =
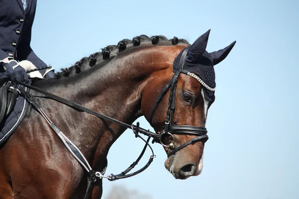
[[[298, 10], [295, 0], [38, 0], [31, 47], [56, 70], [141, 34], [192, 43], [211, 29], [208, 51], [237, 41], [215, 66], [202, 174], [175, 180], [164, 168], [165, 152], [154, 144], [157, 157], [149, 169], [104, 180], [103, 198], [113, 185], [124, 185], [152, 199], [298, 199]], [[137, 121], [152, 130], [143, 117]], [[126, 169], [142, 146], [125, 131], [110, 150], [107, 173]]]

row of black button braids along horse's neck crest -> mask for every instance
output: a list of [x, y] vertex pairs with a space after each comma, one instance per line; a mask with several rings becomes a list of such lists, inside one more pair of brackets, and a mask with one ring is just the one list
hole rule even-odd
[[69, 77], [84, 71], [96, 64], [99, 64], [112, 56], [117, 56], [119, 52], [124, 50], [132, 49], [141, 45], [177, 45], [177, 44], [189, 44], [185, 39], [178, 39], [173, 37], [172, 39], [167, 39], [163, 35], [147, 36], [140, 35], [134, 37], [132, 40], [123, 39], [118, 42], [117, 45], [109, 45], [102, 48], [102, 52], [96, 52], [91, 54], [89, 57], [83, 57], [80, 61], [76, 62], [75, 65], [69, 68], [62, 68], [60, 72], [55, 74], [55, 79], [61, 77]]

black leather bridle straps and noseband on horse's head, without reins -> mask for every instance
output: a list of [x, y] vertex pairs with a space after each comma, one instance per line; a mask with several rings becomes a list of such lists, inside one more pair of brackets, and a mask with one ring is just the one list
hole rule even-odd
[[[188, 73], [187, 71], [183, 70], [184, 63], [185, 63], [185, 58], [186, 58], [188, 49], [189, 48], [185, 48], [185, 50], [183, 51], [182, 56], [181, 56], [180, 61], [179, 61], [179, 68], [180, 69], [176, 70], [176, 72], [174, 73], [174, 75], [171, 78], [170, 82], [165, 86], [165, 88], [161, 92], [160, 96], [155, 101], [154, 107], [153, 107], [153, 109], [151, 111], [151, 114], [150, 114], [150, 117], [149, 117], [149, 123], [151, 123], [153, 114], [154, 114], [155, 110], [157, 109], [158, 104], [163, 99], [166, 92], [170, 89], [170, 94], [169, 94], [169, 99], [168, 99], [168, 107], [167, 107], [166, 119], [165, 119], [165, 126], [163, 127], [163, 130], [160, 134], [161, 136], [170, 135], [173, 139], [172, 143], [170, 143], [168, 146], [163, 144], [160, 140], [160, 143], [163, 146], [169, 147], [172, 150], [170, 153], [168, 153], [168, 155], [167, 155], [168, 157], [170, 157], [171, 155], [175, 155], [176, 152], [178, 152], [182, 148], [188, 146], [189, 144], [193, 144], [193, 143], [198, 142], [198, 141], [202, 141], [203, 143], [205, 143], [209, 139], [209, 137], [207, 135], [208, 131], [204, 127], [189, 126], [189, 125], [175, 125], [173, 123], [173, 114], [174, 114], [174, 109], [175, 109], [175, 90], [176, 90], [176, 85], [177, 85], [177, 78], [178, 78], [180, 73], [184, 73], [184, 74]], [[193, 77], [193, 76], [191, 76], [191, 77]], [[172, 134], [197, 135], [197, 137], [195, 137], [195, 138], [191, 139], [190, 141], [180, 145], [179, 147], [176, 147], [174, 145], [175, 140], [174, 140], [174, 137], [173, 137]]]

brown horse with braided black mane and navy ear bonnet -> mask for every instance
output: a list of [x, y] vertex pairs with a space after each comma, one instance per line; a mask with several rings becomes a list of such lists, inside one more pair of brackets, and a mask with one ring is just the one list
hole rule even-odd
[[[207, 112], [215, 100], [214, 91], [207, 89], [215, 88], [204, 82], [203, 76], [199, 78], [198, 71], [184, 69], [184, 64], [188, 63], [189, 68], [196, 63], [213, 67], [234, 46], [232, 43], [207, 54], [208, 35], [209, 31], [192, 45], [162, 35], [124, 39], [61, 69], [55, 78], [34, 81], [31, 86], [124, 123], [132, 124], [145, 116], [157, 135], [166, 135], [161, 138], [168, 155], [165, 168], [176, 179], [198, 176], [207, 140]], [[175, 63], [181, 68], [177, 69]], [[212, 93], [210, 100], [208, 92]], [[127, 128], [37, 91], [30, 90], [30, 94], [91, 167], [102, 171], [110, 147]], [[0, 160], [1, 199], [77, 199], [85, 195], [86, 172], [35, 108], [28, 108], [0, 148]], [[102, 179], [95, 185], [90, 198], [99, 199]]]

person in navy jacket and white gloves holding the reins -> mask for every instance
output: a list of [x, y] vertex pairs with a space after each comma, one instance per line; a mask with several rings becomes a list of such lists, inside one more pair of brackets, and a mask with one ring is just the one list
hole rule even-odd
[[[25, 82], [25, 65], [46, 66], [30, 47], [35, 9], [36, 0], [0, 0], [0, 77]], [[40, 70], [40, 77], [53, 78], [53, 70]]]

